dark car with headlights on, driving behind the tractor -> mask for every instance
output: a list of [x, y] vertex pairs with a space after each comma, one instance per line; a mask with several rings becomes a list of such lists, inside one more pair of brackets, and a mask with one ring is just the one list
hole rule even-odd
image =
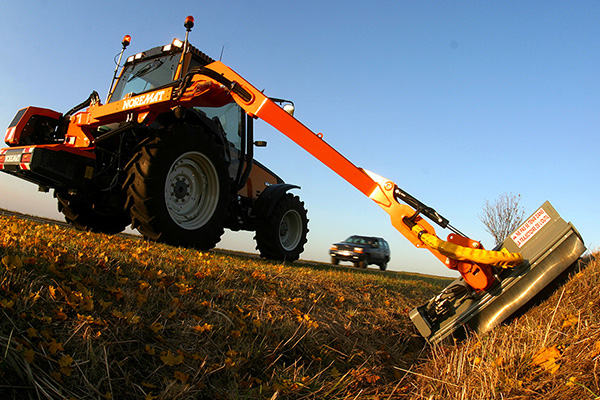
[[332, 244], [329, 255], [333, 265], [338, 265], [340, 261], [351, 261], [359, 268], [376, 264], [385, 271], [390, 261], [390, 246], [379, 237], [354, 235]]

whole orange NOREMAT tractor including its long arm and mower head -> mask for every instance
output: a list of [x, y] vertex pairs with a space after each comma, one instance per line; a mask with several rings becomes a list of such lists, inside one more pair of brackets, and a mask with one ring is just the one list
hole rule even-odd
[[[484, 250], [394, 182], [356, 167], [232, 69], [184, 41], [121, 57], [106, 104], [93, 92], [61, 114], [28, 107], [7, 129], [0, 170], [54, 189], [79, 229], [209, 249], [223, 229], [256, 232], [261, 256], [293, 261], [306, 243], [307, 212], [277, 175], [254, 159], [253, 120], [262, 119], [371, 198], [413, 245], [461, 277], [411, 312], [430, 341], [470, 326], [485, 331], [522, 307], [585, 251], [547, 203], [503, 246]], [[433, 224], [451, 231], [437, 237]], [[519, 234], [521, 232], [521, 234]], [[515, 236], [516, 235], [516, 236]], [[523, 240], [521, 235], [527, 235]], [[498, 311], [500, 310], [500, 311]]]

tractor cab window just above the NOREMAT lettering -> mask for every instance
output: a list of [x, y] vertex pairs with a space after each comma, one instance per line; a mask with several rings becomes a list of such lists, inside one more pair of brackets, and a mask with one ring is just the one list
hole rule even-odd
[[118, 101], [128, 93], [139, 94], [171, 82], [179, 57], [174, 54], [126, 66], [110, 101]]

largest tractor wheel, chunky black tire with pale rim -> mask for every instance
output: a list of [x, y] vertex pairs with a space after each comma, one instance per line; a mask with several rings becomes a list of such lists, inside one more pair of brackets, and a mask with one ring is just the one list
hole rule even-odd
[[127, 182], [133, 226], [144, 237], [201, 250], [221, 239], [231, 183], [223, 146], [204, 127], [161, 131], [136, 156]]

